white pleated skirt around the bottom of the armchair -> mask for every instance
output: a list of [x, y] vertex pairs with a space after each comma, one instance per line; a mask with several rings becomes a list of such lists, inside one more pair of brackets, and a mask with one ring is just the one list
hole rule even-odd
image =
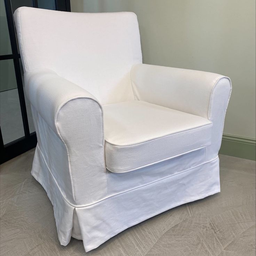
[[220, 192], [218, 157], [87, 206], [74, 206], [65, 200], [39, 150], [31, 173], [53, 204], [61, 244], [67, 245], [72, 236], [83, 240], [85, 251], [163, 211]]

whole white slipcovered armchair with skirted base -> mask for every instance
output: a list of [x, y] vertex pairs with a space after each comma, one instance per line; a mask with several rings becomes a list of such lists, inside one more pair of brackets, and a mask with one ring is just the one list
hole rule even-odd
[[220, 191], [223, 75], [142, 64], [134, 13], [15, 11], [38, 138], [32, 175], [58, 238], [86, 251]]

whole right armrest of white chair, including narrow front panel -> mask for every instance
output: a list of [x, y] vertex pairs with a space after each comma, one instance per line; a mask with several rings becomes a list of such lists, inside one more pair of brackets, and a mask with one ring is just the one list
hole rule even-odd
[[221, 146], [224, 118], [231, 94], [231, 80], [220, 74], [136, 64], [131, 70], [135, 99], [198, 115], [213, 122], [206, 161]]

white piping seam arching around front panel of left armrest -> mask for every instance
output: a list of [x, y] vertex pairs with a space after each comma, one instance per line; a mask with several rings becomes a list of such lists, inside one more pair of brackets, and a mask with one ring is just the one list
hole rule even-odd
[[[102, 146], [104, 147], [104, 127], [103, 127], [103, 110], [102, 110], [102, 106], [93, 98], [91, 97], [74, 97], [74, 98], [71, 98], [71, 99], [68, 99], [66, 102], [62, 103], [57, 111], [56, 111], [56, 114], [55, 114], [55, 117], [54, 117], [54, 125], [56, 127], [56, 131], [59, 135], [59, 137], [61, 138], [61, 140], [63, 141], [63, 143], [65, 144], [65, 147], [66, 147], [66, 150], [67, 150], [67, 159], [68, 159], [68, 162], [69, 162], [69, 173], [70, 173], [70, 179], [71, 179], [71, 185], [72, 185], [72, 194], [73, 194], [73, 197], [74, 197], [74, 201], [75, 201], [75, 191], [74, 191], [74, 184], [73, 184], [73, 179], [72, 179], [72, 171], [71, 171], [71, 165], [70, 165], [70, 154], [69, 154], [69, 148], [67, 147], [67, 144], [66, 142], [64, 141], [64, 139], [62, 138], [61, 136], [61, 133], [59, 132], [59, 128], [58, 128], [58, 125], [57, 125], [57, 119], [58, 119], [58, 115], [59, 115], [59, 112], [61, 111], [62, 107], [65, 106], [67, 103], [69, 103], [70, 101], [73, 101], [75, 99], [91, 99], [92, 101], [96, 102], [101, 110], [101, 118], [102, 118]], [[104, 151], [103, 151], [104, 152]], [[105, 157], [103, 157], [103, 159], [105, 160]]]

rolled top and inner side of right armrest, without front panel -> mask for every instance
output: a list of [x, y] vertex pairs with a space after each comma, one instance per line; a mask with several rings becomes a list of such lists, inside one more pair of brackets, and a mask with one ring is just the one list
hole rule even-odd
[[147, 64], [133, 66], [131, 81], [135, 99], [208, 119], [216, 84], [231, 91], [230, 79], [223, 75]]

